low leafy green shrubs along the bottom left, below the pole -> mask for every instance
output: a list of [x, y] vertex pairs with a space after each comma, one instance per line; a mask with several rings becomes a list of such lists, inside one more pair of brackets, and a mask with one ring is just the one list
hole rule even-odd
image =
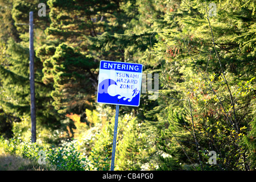
[[[6, 140], [0, 138], [1, 145], [0, 148], [6, 152], [6, 154], [22, 156], [24, 159], [31, 160], [34, 167], [46, 169], [55, 169], [58, 171], [84, 171], [84, 170], [104, 170], [108, 171], [110, 169], [110, 159], [109, 155], [105, 152], [98, 153], [93, 152], [90, 157], [92, 160], [88, 159], [88, 156], [82, 154], [77, 150], [78, 143], [65, 142], [61, 146], [51, 146], [40, 145], [31, 142], [20, 142], [20, 140], [10, 139]], [[39, 155], [44, 154], [44, 155]], [[103, 157], [100, 160], [100, 156]], [[44, 161], [46, 164], [40, 164], [39, 160], [45, 157]], [[23, 167], [22, 167], [23, 168]]]

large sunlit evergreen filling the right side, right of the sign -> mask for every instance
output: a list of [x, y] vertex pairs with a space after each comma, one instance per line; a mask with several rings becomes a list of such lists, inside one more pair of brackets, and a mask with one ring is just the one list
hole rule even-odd
[[[176, 147], [181, 151], [183, 146], [188, 157], [181, 155], [178, 160], [188, 163], [191, 158], [192, 164], [204, 164], [201, 169], [207, 168], [203, 156], [207, 158], [207, 151], [214, 150], [220, 155], [218, 169], [247, 170], [254, 168], [247, 156], [255, 155], [246, 152], [250, 149], [243, 141], [251, 130], [249, 123], [253, 123], [254, 113], [251, 105], [255, 102], [255, 45], [251, 44], [254, 35], [250, 34], [254, 29], [255, 3], [214, 3], [218, 9], [217, 16], [212, 17], [209, 4], [200, 1], [174, 2], [162, 9], [163, 21], [158, 27], [165, 26], [159, 32], [161, 41], [155, 45], [158, 57], [166, 60], [162, 77], [165, 84], [160, 93], [170, 108], [185, 111], [189, 118], [189, 125], [183, 129], [185, 133], [177, 134], [177, 140], [186, 134], [194, 139], [185, 137], [174, 146], [168, 141], [161, 145], [170, 148], [169, 154], [174, 154], [172, 150]], [[245, 35], [247, 42], [243, 42]], [[162, 130], [163, 139], [175, 136]], [[187, 146], [191, 142], [194, 144]], [[251, 142], [253, 146], [254, 140]]]

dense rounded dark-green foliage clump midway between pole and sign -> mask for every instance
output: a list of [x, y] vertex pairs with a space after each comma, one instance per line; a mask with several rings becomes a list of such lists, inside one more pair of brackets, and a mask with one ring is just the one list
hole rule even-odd
[[[53, 88], [55, 88], [52, 90], [51, 96], [54, 100], [52, 105], [55, 106], [55, 109], [59, 113], [65, 113], [66, 107], [73, 108], [77, 106], [80, 100], [89, 100], [88, 94], [92, 94], [93, 84], [92, 80], [85, 81], [85, 78], [90, 75], [90, 69], [95, 67], [95, 63], [90, 58], [76, 53], [72, 47], [68, 47], [64, 43], [56, 48], [55, 55], [51, 57], [50, 61], [52, 68], [50, 74], [53, 77]], [[77, 70], [77, 67], [80, 67], [80, 70]], [[46, 72], [48, 71], [44, 71], [44, 73]], [[46, 74], [44, 76], [48, 77]], [[81, 93], [77, 94], [73, 89], [72, 93], [69, 92], [70, 88], [74, 87], [77, 88], [77, 92]], [[67, 92], [63, 92], [63, 90], [67, 90]], [[85, 109], [86, 102], [79, 105]]]

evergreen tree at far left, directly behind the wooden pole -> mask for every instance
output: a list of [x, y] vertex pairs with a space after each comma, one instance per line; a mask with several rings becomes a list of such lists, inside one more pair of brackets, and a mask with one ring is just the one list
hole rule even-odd
[[[26, 32], [28, 31], [28, 19], [26, 17], [33, 7], [37, 8], [37, 2], [34, 1], [35, 4], [32, 7], [31, 2], [13, 2], [12, 12], [14, 24], [18, 26], [19, 41], [9, 39], [5, 58], [0, 65], [1, 85], [4, 93], [1, 94], [1, 106], [3, 111], [17, 118], [30, 117], [29, 49], [28, 32]], [[33, 11], [35, 12], [35, 9]], [[19, 27], [20, 24], [26, 28]], [[35, 32], [40, 34], [40, 27]], [[35, 39], [35, 48], [40, 44], [40, 40]], [[43, 84], [42, 76], [42, 63], [35, 57], [36, 121], [39, 126], [56, 128], [60, 123], [52, 107], [51, 87]]]

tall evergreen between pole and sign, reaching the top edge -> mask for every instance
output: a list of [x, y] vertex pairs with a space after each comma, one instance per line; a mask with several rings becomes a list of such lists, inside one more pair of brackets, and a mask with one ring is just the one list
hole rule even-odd
[[48, 40], [37, 51], [44, 65], [43, 81], [53, 86], [51, 96], [59, 113], [82, 113], [86, 107], [92, 109], [100, 61], [87, 36], [104, 32], [103, 19], [118, 8], [118, 1], [47, 3], [51, 19], [45, 31]]

